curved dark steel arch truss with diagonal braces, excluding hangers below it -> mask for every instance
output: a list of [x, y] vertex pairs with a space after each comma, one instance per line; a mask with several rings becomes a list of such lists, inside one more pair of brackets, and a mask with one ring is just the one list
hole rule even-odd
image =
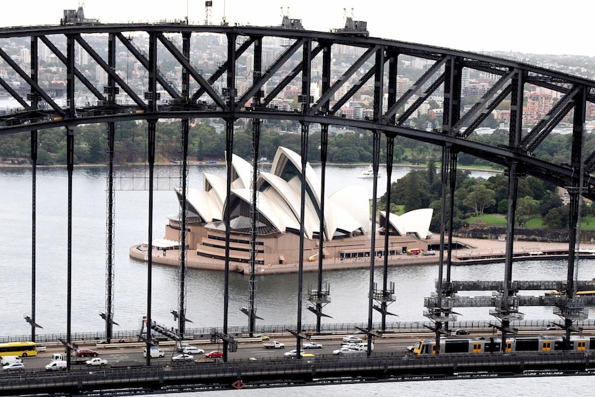
[[[126, 38], [126, 32], [134, 32], [135, 35], [153, 35], [161, 46], [157, 48], [159, 52], [154, 60], [148, 59], [142, 49], [137, 48], [135, 44]], [[145, 82], [141, 88], [132, 86], [128, 81], [121, 77], [121, 70], [118, 66], [110, 66], [101, 56], [105, 48], [98, 48], [90, 43], [93, 35], [103, 35], [111, 33], [119, 39], [119, 43], [138, 61], [147, 72], [155, 71], [155, 81], [157, 90], [164, 91], [168, 98], [157, 99], [153, 109], [150, 109], [148, 97], [150, 88], [148, 82]], [[199, 35], [204, 33], [213, 33], [222, 35], [222, 37], [242, 37], [243, 41], [238, 41], [237, 48], [234, 51], [233, 59], [225, 59], [221, 66], [213, 71], [210, 77], [203, 77], [202, 71], [193, 66], [191, 59], [187, 59], [182, 54], [169, 35]], [[528, 175], [540, 177], [558, 186], [582, 186], [583, 195], [595, 199], [594, 189], [589, 182], [590, 173], [595, 168], [595, 153], [585, 153], [586, 160], [578, 164], [578, 168], [583, 168], [583, 182], [579, 182], [576, 162], [574, 164], [549, 164], [531, 155], [534, 149], [543, 142], [552, 130], [558, 126], [559, 122], [567, 113], [574, 110], [578, 97], [584, 97], [589, 103], [595, 102], [595, 82], [566, 75], [555, 70], [547, 70], [528, 64], [523, 64], [510, 59], [500, 59], [489, 57], [487, 55], [471, 52], [462, 52], [445, 48], [436, 48], [424, 46], [415, 43], [403, 43], [400, 41], [389, 41], [373, 37], [361, 37], [355, 35], [344, 35], [330, 32], [312, 32], [308, 30], [289, 30], [283, 28], [255, 27], [255, 26], [190, 26], [184, 23], [168, 24], [106, 24], [96, 26], [36, 26], [30, 28], [4, 28], [0, 30], [0, 39], [10, 41], [19, 37], [39, 37], [49, 50], [66, 66], [70, 66], [70, 77], [68, 80], [72, 86], [68, 93], [67, 108], [59, 105], [55, 95], [41, 84], [37, 83], [22, 68], [14, 62], [7, 50], [0, 44], [0, 57], [6, 61], [8, 68], [18, 75], [24, 84], [29, 86], [32, 95], [35, 95], [48, 108], [31, 109], [29, 102], [23, 98], [19, 91], [14, 88], [6, 79], [0, 79], [0, 87], [7, 95], [13, 97], [17, 103], [22, 106], [14, 113], [9, 113], [0, 117], [0, 135], [10, 133], [19, 133], [30, 131], [32, 129], [43, 130], [59, 126], [75, 126], [77, 124], [103, 123], [125, 121], [130, 119], [160, 119], [160, 118], [228, 118], [238, 119], [242, 117], [260, 118], [260, 119], [289, 119], [301, 123], [318, 123], [337, 126], [351, 126], [352, 128], [362, 128], [364, 130], [378, 130], [391, 135], [400, 135], [411, 139], [429, 142], [440, 146], [449, 145], [452, 150], [486, 159], [496, 164], [509, 166], [511, 162], [516, 162], [519, 172]], [[59, 39], [66, 37], [70, 46], [78, 46], [80, 51], [86, 52], [101, 68], [108, 74], [110, 79], [115, 81], [117, 88], [121, 88], [121, 94], [115, 104], [106, 106], [106, 97], [103, 87], [98, 87], [86, 77], [84, 69], [77, 65], [72, 57], [74, 52], [70, 51], [64, 54], [59, 49]], [[273, 41], [286, 41], [287, 46], [280, 46], [280, 50], [274, 61], [271, 61], [264, 70], [255, 70], [258, 78], [241, 75], [232, 64], [237, 64], [242, 55], [255, 48], [254, 41], [261, 38], [272, 38]], [[58, 39], [59, 38], [59, 39]], [[304, 68], [312, 68], [312, 65], [304, 65], [303, 57], [298, 57], [296, 61], [294, 55], [304, 46], [304, 42], [310, 40], [313, 43], [309, 59], [311, 63], [325, 48], [332, 50], [334, 48], [350, 48], [349, 51], [356, 55], [347, 69], [338, 73], [338, 77], [331, 84], [322, 84], [318, 74], [307, 76], [308, 86], [318, 85], [324, 87], [320, 92], [320, 99], [311, 101], [309, 106], [300, 108], [290, 108], [280, 110], [272, 104], [280, 93], [291, 81], [299, 75], [303, 75]], [[383, 52], [384, 57], [372, 57], [377, 52]], [[191, 83], [195, 87], [191, 91], [190, 98], [182, 100], [179, 95], [179, 89], [172, 84], [170, 80], [164, 77], [159, 70], [158, 64], [162, 59], [162, 54], [173, 57], [179, 64], [179, 68], [191, 76]], [[391, 56], [387, 56], [387, 55]], [[395, 96], [390, 106], [384, 107], [382, 117], [353, 118], [340, 114], [340, 106], [353, 99], [354, 95], [360, 93], [374, 75], [379, 67], [376, 63], [378, 59], [387, 62], [389, 59], [395, 59], [401, 55], [408, 55], [424, 59], [429, 65], [427, 71], [402, 95]], [[191, 49], [192, 56], [192, 49]], [[262, 56], [262, 55], [260, 55]], [[425, 131], [417, 130], [411, 127], [409, 122], [412, 115], [418, 112], [422, 104], [427, 101], [430, 95], [445, 99], [448, 103], [449, 98], [444, 97], [440, 87], [447, 84], [445, 79], [450, 78], [445, 75], [445, 68], [452, 62], [460, 62], [462, 68], [471, 68], [488, 72], [491, 75], [500, 76], [485, 95], [482, 95], [474, 106], [468, 110], [460, 107], [460, 114], [457, 115], [458, 121], [451, 126], [451, 133], [445, 134], [443, 130]], [[355, 73], [362, 71], [358, 81]], [[233, 79], [246, 79], [248, 86], [243, 93], [229, 95], [226, 90], [228, 84], [223, 81], [226, 77], [230, 81], [229, 74]], [[489, 146], [478, 144], [469, 139], [471, 133], [477, 128], [487, 115], [502, 105], [503, 101], [509, 97], [511, 92], [511, 81], [516, 77], [523, 76], [524, 84], [533, 84], [538, 87], [548, 88], [560, 93], [560, 100], [552, 109], [543, 116], [534, 126], [525, 126], [521, 124], [523, 135], [519, 142], [514, 142], [507, 147]], [[275, 77], [275, 79], [273, 79]], [[456, 77], [460, 79], [460, 76]], [[350, 81], [351, 80], [351, 81]], [[79, 86], [79, 84], [82, 84]], [[380, 90], [374, 90], [374, 95], [378, 93], [396, 93], [394, 86], [395, 79], [383, 79], [384, 86]], [[460, 82], [459, 82], [460, 84]], [[302, 84], [302, 87], [305, 86]], [[97, 104], [77, 107], [79, 87], [84, 88], [97, 98]], [[522, 87], [521, 87], [522, 89]], [[251, 104], [250, 100], [255, 93], [262, 91], [264, 93], [260, 104]], [[266, 91], [266, 92], [265, 92]], [[337, 93], [342, 93], [337, 97]], [[302, 93], [304, 95], [304, 93]], [[334, 97], [335, 103], [330, 106], [322, 106]], [[520, 98], [522, 100], [522, 98]], [[382, 104], [384, 99], [375, 100]], [[181, 106], [181, 103], [183, 103]], [[580, 120], [579, 120], [580, 122]], [[584, 119], [583, 119], [584, 122]], [[575, 122], [575, 126], [580, 123]], [[575, 127], [576, 129], [576, 127]], [[455, 134], [453, 134], [455, 133]], [[581, 147], [582, 137], [585, 131], [576, 133], [574, 147]]]

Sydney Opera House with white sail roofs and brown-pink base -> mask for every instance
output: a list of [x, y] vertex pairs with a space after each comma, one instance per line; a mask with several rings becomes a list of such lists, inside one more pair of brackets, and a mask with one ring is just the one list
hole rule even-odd
[[[257, 257], [256, 264], [276, 267], [297, 264], [300, 246], [300, 202], [302, 159], [300, 155], [280, 147], [270, 172], [257, 176]], [[231, 197], [226, 200], [226, 179], [204, 173], [202, 189], [188, 189], [186, 200], [186, 243], [188, 267], [215, 269], [225, 260], [224, 213], [230, 206], [231, 239], [229, 261], [232, 269], [246, 269], [251, 252], [251, 170], [252, 166], [233, 155]], [[371, 247], [371, 197], [361, 186], [344, 186], [324, 199], [324, 229], [320, 230], [322, 198], [320, 178], [310, 164], [306, 165], [306, 202], [304, 211], [304, 262], [318, 262], [320, 233], [323, 234], [324, 261], [369, 258]], [[180, 199], [178, 192], [178, 199]], [[389, 255], [406, 253], [409, 249], [427, 249], [431, 209], [418, 209], [404, 215], [389, 216]], [[376, 255], [384, 253], [384, 224], [380, 212], [375, 236]], [[179, 215], [170, 217], [163, 239], [155, 240], [155, 262], [175, 263], [179, 248]], [[130, 254], [146, 259], [142, 246], [133, 247]], [[157, 254], [155, 254], [157, 253]], [[160, 254], [162, 253], [162, 254]], [[210, 266], [205, 266], [210, 264]]]

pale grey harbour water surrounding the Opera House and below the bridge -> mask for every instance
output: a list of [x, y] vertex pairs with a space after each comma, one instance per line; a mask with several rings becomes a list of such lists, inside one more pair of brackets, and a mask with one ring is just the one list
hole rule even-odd
[[[359, 184], [372, 197], [371, 179], [358, 175], [367, 166], [328, 166], [326, 181], [332, 193], [344, 184]], [[317, 169], [315, 167], [315, 169]], [[191, 186], [202, 187], [202, 172], [224, 173], [222, 166], [196, 166], [190, 172]], [[398, 168], [393, 180], [405, 175], [409, 169]], [[484, 176], [488, 175], [474, 175]], [[175, 184], [177, 175], [170, 181]], [[31, 170], [30, 168], [0, 168], [0, 284], [3, 304], [0, 305], [0, 335], [26, 335], [30, 326], [23, 316], [31, 312], [32, 289], [32, 229], [31, 229]], [[164, 178], [165, 179], [165, 178]], [[378, 181], [378, 196], [386, 189], [385, 177]], [[122, 184], [125, 187], [126, 183]], [[73, 176], [72, 199], [72, 331], [102, 331], [104, 322], [99, 313], [105, 311], [106, 300], [106, 180], [103, 167], [77, 167]], [[67, 292], [67, 215], [68, 179], [64, 168], [38, 168], [37, 171], [37, 266], [36, 311], [37, 322], [43, 327], [37, 333], [66, 332]], [[130, 259], [128, 249], [148, 238], [147, 191], [119, 190], [115, 194], [115, 321], [120, 330], [135, 330], [146, 313], [146, 263]], [[171, 188], [155, 192], [153, 238], [162, 238], [166, 217], [177, 213], [177, 199]], [[565, 260], [527, 261], [515, 264], [515, 280], [564, 280]], [[438, 276], [436, 265], [411, 265], [389, 269], [389, 280], [395, 282], [396, 303], [390, 311], [398, 314], [394, 321], [425, 321], [423, 298], [430, 296]], [[578, 268], [581, 280], [595, 276], [595, 261], [581, 260]], [[455, 267], [453, 280], [502, 280], [503, 264], [481, 264]], [[375, 276], [382, 280], [382, 272]], [[177, 309], [178, 274], [175, 267], [153, 267], [152, 316], [166, 327], [175, 327], [170, 314]], [[316, 275], [304, 275], [304, 289], [314, 283]], [[216, 271], [188, 271], [187, 317], [192, 327], [221, 327], [224, 275]], [[332, 318], [329, 323], [367, 322], [367, 293], [369, 271], [335, 271], [324, 274], [324, 282], [331, 287], [331, 304], [324, 309]], [[264, 318], [262, 325], [295, 324], [298, 275], [267, 275], [257, 278], [257, 314]], [[531, 293], [525, 291], [524, 293]], [[248, 278], [230, 275], [229, 324], [246, 325], [246, 316], [240, 307], [248, 304]], [[303, 302], [304, 306], [307, 302]], [[460, 308], [460, 320], [493, 320], [487, 308]], [[523, 308], [525, 319], [557, 320], [552, 308]], [[379, 321], [380, 318], [375, 318]], [[309, 311], [302, 313], [302, 323], [315, 322]], [[537, 383], [539, 381], [540, 383]], [[516, 385], [508, 389], [510, 385]], [[539, 387], [538, 387], [539, 385]], [[547, 388], [544, 388], [547, 385]], [[566, 385], [558, 388], [558, 385]], [[500, 396], [509, 390], [517, 396], [536, 396], [538, 389], [548, 394], [562, 393], [570, 385], [573, 391], [588, 394], [595, 385], [592, 377], [521, 378], [449, 380], [412, 383], [376, 383], [371, 385], [332, 385], [320, 387], [285, 388], [286, 396], [314, 395], [360, 396], [402, 395], [430, 396], [437, 390], [453, 396]], [[578, 385], [578, 386], [577, 386]], [[583, 389], [583, 385], [585, 389]], [[578, 387], [578, 389], [576, 388]], [[496, 391], [498, 394], [496, 394]], [[526, 391], [526, 394], [523, 394]], [[278, 389], [244, 390], [246, 396], [274, 396]], [[227, 392], [201, 392], [203, 395], [226, 395]], [[490, 394], [492, 393], [492, 394]], [[444, 394], [444, 393], [440, 393]], [[569, 394], [574, 395], [574, 394]], [[577, 394], [578, 395], [578, 394]]]

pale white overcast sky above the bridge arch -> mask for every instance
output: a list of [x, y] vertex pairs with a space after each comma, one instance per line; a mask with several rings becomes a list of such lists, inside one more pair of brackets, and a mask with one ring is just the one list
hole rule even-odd
[[[21, 0], [3, 4], [0, 26], [58, 24], [80, 3], [87, 18], [101, 22], [205, 19], [204, 0]], [[340, 28], [344, 9], [353, 9], [373, 37], [468, 51], [595, 55], [589, 0], [213, 0], [212, 20], [277, 26], [282, 8], [308, 30]]]

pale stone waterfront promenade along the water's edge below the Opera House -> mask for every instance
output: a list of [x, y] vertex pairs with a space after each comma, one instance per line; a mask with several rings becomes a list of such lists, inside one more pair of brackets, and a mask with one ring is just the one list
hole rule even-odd
[[[506, 252], [506, 242], [501, 240], [484, 240], [455, 238], [453, 242], [458, 242], [463, 249], [453, 250], [453, 265], [469, 265], [478, 263], [504, 262]], [[431, 241], [430, 244], [438, 244], [438, 240]], [[595, 258], [595, 244], [581, 244], [579, 251], [580, 258]], [[136, 245], [130, 247], [130, 256], [139, 260], [147, 260], [146, 246]], [[170, 249], [164, 255], [160, 249], [153, 249], [153, 262], [157, 264], [169, 264], [178, 266], [179, 251]], [[568, 244], [563, 242], [526, 242], [518, 241], [514, 243], [514, 260], [552, 260], [567, 259]], [[304, 256], [304, 272], [318, 271], [318, 260], [308, 261], [307, 255]], [[391, 255], [389, 256], [389, 267], [407, 266], [409, 264], [438, 264], [440, 256], [436, 255]], [[376, 258], [375, 267], [384, 265], [383, 258]], [[206, 270], [224, 270], [224, 261], [205, 258], [197, 255], [195, 250], [189, 250], [187, 253], [186, 265], [193, 269]], [[369, 258], [349, 258], [340, 260], [339, 258], [329, 258], [323, 260], [325, 271], [347, 270], [347, 269], [367, 269], [370, 266]], [[246, 263], [231, 263], [230, 271], [247, 274], [249, 265]], [[297, 273], [298, 264], [259, 264], [257, 273], [281, 274]]]

